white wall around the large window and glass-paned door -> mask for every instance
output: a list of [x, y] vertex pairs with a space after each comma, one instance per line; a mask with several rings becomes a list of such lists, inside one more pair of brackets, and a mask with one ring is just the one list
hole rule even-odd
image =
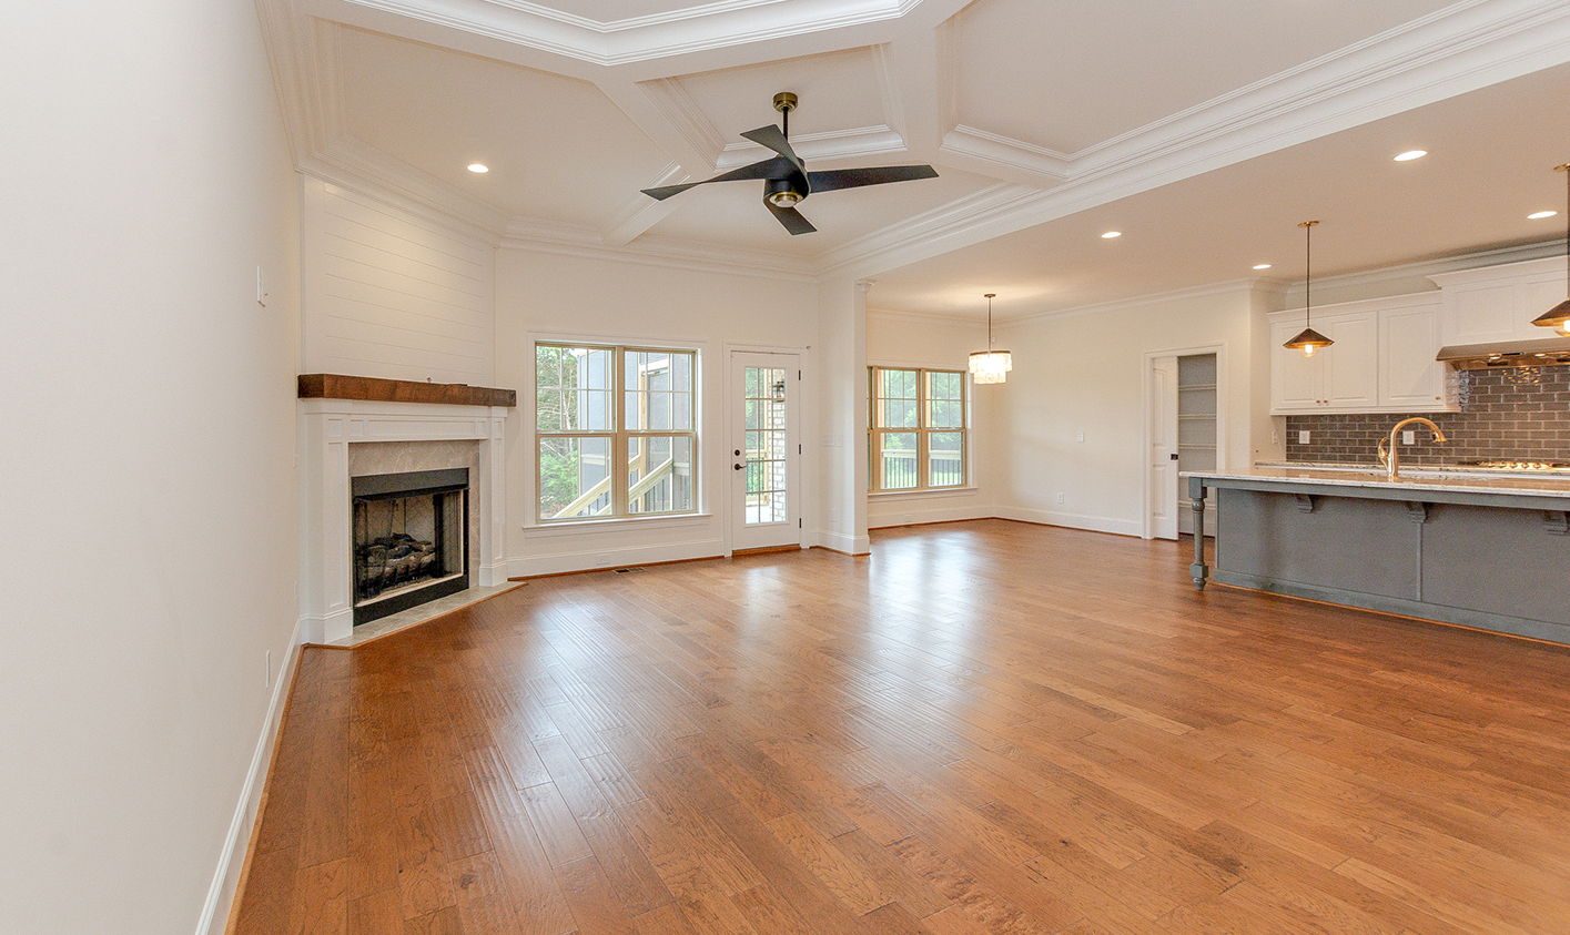
[[[611, 527], [529, 527], [535, 515], [534, 342], [582, 339], [700, 353], [702, 516], [623, 522]], [[727, 351], [799, 348], [807, 370], [805, 499], [815, 491], [812, 370], [818, 304], [809, 282], [556, 254], [517, 246], [496, 251], [496, 383], [518, 391], [518, 417], [507, 425], [507, 555], [512, 576], [617, 568], [722, 555], [730, 551], [732, 504], [727, 427]], [[807, 350], [812, 348], [812, 350]], [[813, 535], [809, 515], [805, 532]]]

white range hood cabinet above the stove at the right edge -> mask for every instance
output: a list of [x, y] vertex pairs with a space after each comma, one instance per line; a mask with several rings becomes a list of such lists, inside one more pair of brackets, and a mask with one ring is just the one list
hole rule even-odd
[[1429, 276], [1440, 286], [1440, 344], [1557, 337], [1532, 318], [1565, 298], [1565, 257]]

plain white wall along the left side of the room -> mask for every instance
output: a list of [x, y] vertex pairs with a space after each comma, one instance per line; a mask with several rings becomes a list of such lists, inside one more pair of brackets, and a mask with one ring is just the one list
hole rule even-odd
[[295, 620], [298, 187], [245, 0], [8, 3], [0, 89], [0, 929], [193, 932]]

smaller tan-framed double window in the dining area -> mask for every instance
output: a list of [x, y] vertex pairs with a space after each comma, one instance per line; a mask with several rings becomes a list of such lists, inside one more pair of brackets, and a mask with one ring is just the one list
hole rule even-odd
[[966, 483], [962, 370], [870, 367], [873, 493]]

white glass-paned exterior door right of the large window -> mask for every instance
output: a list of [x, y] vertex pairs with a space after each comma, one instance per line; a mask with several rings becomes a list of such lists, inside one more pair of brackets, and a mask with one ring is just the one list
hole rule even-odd
[[801, 544], [801, 356], [730, 355], [732, 549]]

